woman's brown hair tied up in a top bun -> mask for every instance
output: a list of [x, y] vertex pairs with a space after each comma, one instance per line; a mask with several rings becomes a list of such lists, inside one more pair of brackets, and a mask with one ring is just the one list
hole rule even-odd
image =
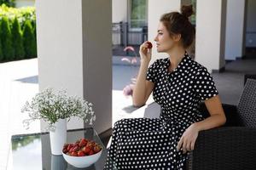
[[181, 13], [172, 12], [163, 14], [160, 21], [166, 26], [169, 35], [181, 34], [184, 48], [189, 48], [195, 38], [195, 27], [189, 21], [189, 16], [194, 14], [192, 5], [181, 8]]

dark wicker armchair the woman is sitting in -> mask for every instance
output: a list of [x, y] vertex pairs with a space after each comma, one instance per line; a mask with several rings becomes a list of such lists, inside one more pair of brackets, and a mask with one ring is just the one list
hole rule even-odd
[[[256, 80], [247, 79], [237, 106], [223, 107], [227, 122], [223, 127], [199, 133], [195, 150], [189, 153], [187, 169], [256, 169]], [[209, 116], [204, 104], [201, 111]]]

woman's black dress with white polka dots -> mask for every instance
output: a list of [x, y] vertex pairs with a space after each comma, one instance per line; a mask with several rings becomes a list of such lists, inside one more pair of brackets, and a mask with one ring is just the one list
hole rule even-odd
[[154, 82], [153, 98], [159, 118], [125, 118], [114, 123], [104, 169], [185, 169], [188, 154], [177, 151], [183, 132], [203, 120], [201, 100], [218, 95], [207, 69], [185, 53], [170, 72], [170, 59], [157, 59], [146, 79]]

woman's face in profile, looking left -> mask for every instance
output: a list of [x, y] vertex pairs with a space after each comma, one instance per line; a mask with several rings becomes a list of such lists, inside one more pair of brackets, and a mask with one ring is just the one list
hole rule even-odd
[[157, 52], [167, 52], [170, 51], [180, 38], [177, 38], [177, 35], [174, 37], [170, 37], [169, 32], [166, 29], [166, 26], [160, 22], [157, 28], [157, 35], [154, 37], [154, 41], [156, 42]]

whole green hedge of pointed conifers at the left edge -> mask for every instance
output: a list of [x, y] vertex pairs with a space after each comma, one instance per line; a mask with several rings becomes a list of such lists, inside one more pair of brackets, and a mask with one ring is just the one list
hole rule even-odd
[[37, 57], [35, 8], [0, 6], [0, 62]]

